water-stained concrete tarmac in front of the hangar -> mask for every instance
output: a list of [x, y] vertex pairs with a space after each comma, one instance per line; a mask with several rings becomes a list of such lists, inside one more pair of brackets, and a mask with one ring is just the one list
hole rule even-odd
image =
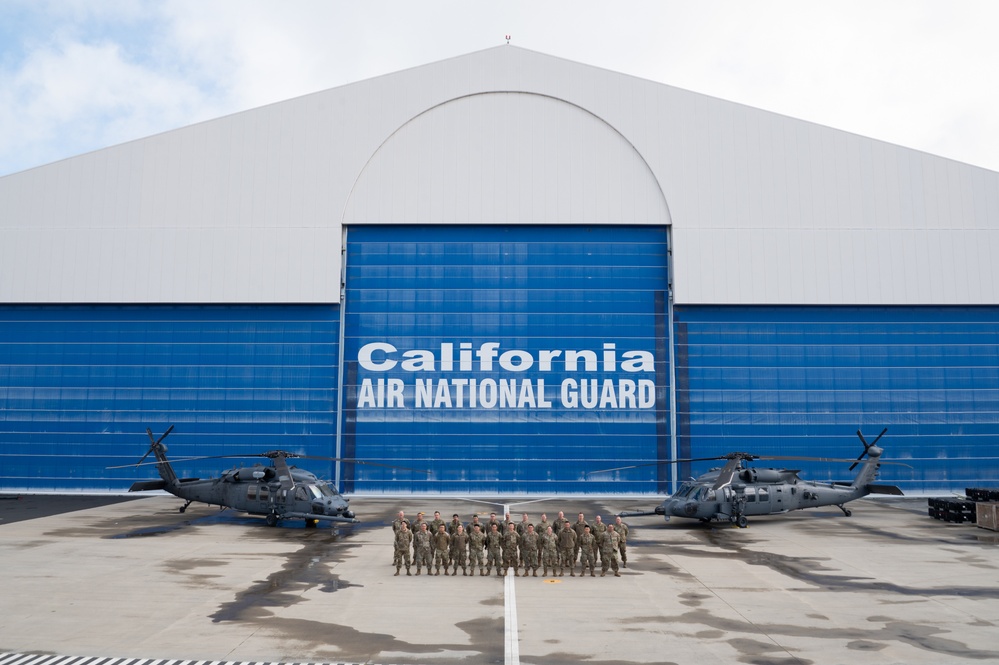
[[[72, 497], [60, 497], [65, 507]], [[44, 501], [42, 501], [44, 503]], [[0, 521], [0, 652], [254, 663], [999, 663], [999, 534], [861, 500], [747, 529], [631, 518], [621, 577], [395, 577], [391, 520], [650, 500], [355, 497], [267, 527], [169, 496]], [[91, 505], [91, 504], [87, 504]], [[413, 570], [415, 573], [415, 568]]]

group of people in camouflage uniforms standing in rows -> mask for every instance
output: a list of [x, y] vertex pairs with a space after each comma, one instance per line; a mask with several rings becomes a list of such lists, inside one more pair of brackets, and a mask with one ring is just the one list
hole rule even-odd
[[[599, 562], [601, 577], [608, 570], [620, 577], [619, 554], [621, 564], [628, 567], [628, 525], [620, 517], [615, 518], [613, 524], [606, 524], [597, 515], [591, 525], [583, 513], [571, 522], [560, 511], [552, 522], [547, 515], [542, 515], [541, 520], [533, 524], [527, 513], [520, 522], [514, 522], [510, 513], [502, 522], [496, 519], [496, 513], [490, 513], [486, 522], [480, 522], [479, 516], [474, 515], [471, 522], [462, 524], [457, 514], [450, 522], [445, 522], [439, 511], [429, 522], [423, 513], [417, 514], [411, 522], [400, 510], [399, 517], [392, 522], [392, 531], [395, 533], [392, 565], [396, 575], [400, 574], [403, 565], [406, 574], [412, 575], [410, 569], [415, 563], [417, 575], [424, 566], [428, 575], [440, 575], [442, 567], [445, 575], [457, 575], [459, 568], [462, 575], [475, 575], [478, 566], [480, 576], [492, 575], [495, 567], [496, 575], [500, 577], [510, 568], [513, 568], [514, 576], [519, 576], [523, 568], [524, 577], [529, 574], [537, 577], [538, 568], [542, 568], [545, 577], [549, 570], [553, 576], [560, 577], [568, 570], [569, 576], [575, 577], [578, 561], [582, 563], [580, 576], [589, 568], [590, 577], [595, 577]], [[448, 573], [449, 567], [451, 573]]]

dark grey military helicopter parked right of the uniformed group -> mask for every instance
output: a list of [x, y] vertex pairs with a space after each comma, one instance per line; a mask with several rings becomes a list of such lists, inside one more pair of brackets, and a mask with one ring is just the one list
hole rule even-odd
[[[857, 436], [864, 444], [864, 450], [856, 460], [827, 457], [785, 457], [753, 455], [734, 452], [717, 457], [669, 460], [669, 463], [699, 462], [707, 460], [727, 460], [725, 466], [708, 471], [680, 485], [680, 488], [655, 510], [623, 512], [621, 517], [661, 515], [668, 522], [671, 517], [698, 519], [704, 523], [728, 521], [741, 529], [749, 525], [749, 517], [756, 515], [778, 515], [792, 510], [836, 506], [847, 517], [852, 515], [846, 503], [868, 494], [888, 494], [902, 496], [902, 490], [894, 485], [880, 485], [876, 479], [882, 464], [901, 462], [882, 461], [884, 449], [877, 442], [888, 431], [886, 427], [874, 441], [867, 443], [864, 435], [857, 430]], [[864, 457], [867, 457], [864, 460]], [[852, 471], [861, 465], [852, 482], [819, 483], [802, 480], [797, 469], [762, 469], [745, 466], [745, 462], [755, 460], [797, 460], [813, 462], [853, 462]], [[656, 464], [655, 462], [653, 464]], [[644, 465], [638, 465], [644, 466]], [[628, 469], [634, 467], [619, 467]], [[911, 468], [911, 467], [910, 467]], [[617, 471], [606, 469], [604, 471]], [[593, 473], [601, 473], [595, 471]]]

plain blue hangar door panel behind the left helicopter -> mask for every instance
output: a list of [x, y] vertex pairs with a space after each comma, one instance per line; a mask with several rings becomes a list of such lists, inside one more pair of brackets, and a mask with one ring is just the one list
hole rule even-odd
[[174, 457], [332, 455], [338, 350], [336, 307], [0, 307], [0, 487], [127, 489], [171, 424]]

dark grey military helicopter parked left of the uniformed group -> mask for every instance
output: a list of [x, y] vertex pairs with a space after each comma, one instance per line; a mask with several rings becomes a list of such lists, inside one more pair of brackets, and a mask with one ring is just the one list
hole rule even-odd
[[[233, 467], [217, 478], [178, 478], [170, 461], [167, 448], [163, 445], [173, 425], [167, 428], [158, 439], [147, 428], [150, 446], [146, 454], [134, 466], [155, 464], [160, 480], [140, 480], [132, 484], [129, 492], [166, 490], [174, 496], [185, 499], [180, 507], [183, 513], [195, 501], [224, 508], [234, 508], [251, 515], [263, 515], [268, 526], [288, 519], [305, 520], [306, 527], [315, 527], [320, 521], [331, 523], [357, 524], [360, 522], [349, 508], [349, 499], [336, 488], [315, 474], [289, 466], [291, 458], [322, 459], [328, 461], [350, 461], [355, 464], [373, 464], [360, 460], [345, 460], [336, 457], [310, 457], [283, 450], [271, 450], [253, 455], [216, 455], [209, 457], [188, 457], [174, 460], [189, 462], [201, 459], [264, 457], [270, 465], [256, 463], [250, 467]], [[155, 462], [144, 462], [150, 453]], [[130, 468], [133, 465], [112, 466], [109, 469]], [[378, 465], [381, 466], [381, 465]], [[402, 467], [398, 467], [402, 468]], [[410, 469], [416, 471], [416, 469]]]

